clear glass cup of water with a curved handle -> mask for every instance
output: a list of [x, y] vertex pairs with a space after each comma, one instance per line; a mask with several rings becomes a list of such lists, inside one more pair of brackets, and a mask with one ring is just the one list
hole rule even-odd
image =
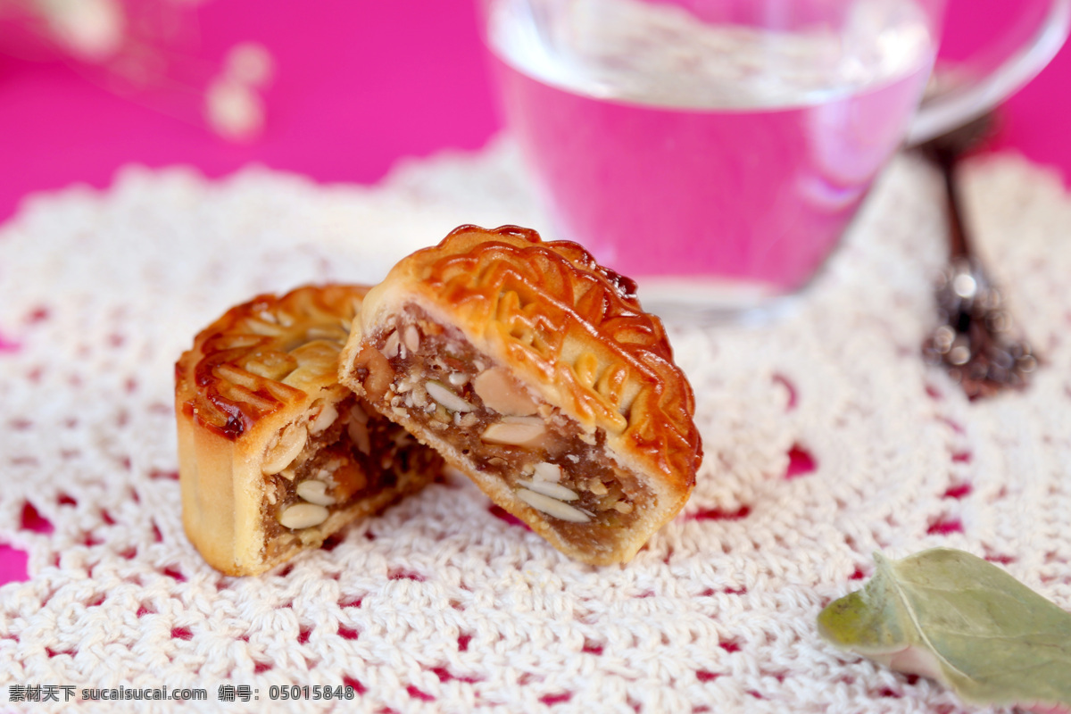
[[1071, 21], [1071, 0], [1045, 2], [1025, 42], [984, 72], [959, 67], [920, 107], [944, 0], [481, 2], [555, 238], [689, 321], [798, 294], [905, 138], [990, 109]]

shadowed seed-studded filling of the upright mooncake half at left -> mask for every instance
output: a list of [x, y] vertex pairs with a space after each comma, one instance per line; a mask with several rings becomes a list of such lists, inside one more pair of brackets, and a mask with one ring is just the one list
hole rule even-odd
[[405, 429], [348, 392], [318, 399], [265, 453], [266, 535], [320, 526], [333, 511], [432, 468], [433, 457], [414, 445]]

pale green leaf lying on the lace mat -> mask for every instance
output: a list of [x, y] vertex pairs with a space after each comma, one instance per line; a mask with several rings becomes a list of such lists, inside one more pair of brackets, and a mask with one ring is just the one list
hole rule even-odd
[[818, 614], [826, 640], [971, 703], [1071, 707], [1071, 614], [961, 550], [874, 560], [862, 590]]

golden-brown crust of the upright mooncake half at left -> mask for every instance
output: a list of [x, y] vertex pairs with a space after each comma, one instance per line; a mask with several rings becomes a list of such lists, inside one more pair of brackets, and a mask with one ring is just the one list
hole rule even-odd
[[[273, 483], [285, 485], [265, 473], [282, 432], [292, 427], [307, 434], [318, 413], [353, 400], [337, 383], [337, 355], [366, 292], [364, 286], [329, 285], [258, 295], [202, 330], [176, 364], [183, 525], [217, 569], [261, 573], [434, 475], [392, 474], [389, 487], [341, 502], [308, 528], [266, 519], [278, 490]], [[345, 441], [345, 434], [340, 438]], [[330, 446], [340, 461], [347, 460], [343, 446]]]

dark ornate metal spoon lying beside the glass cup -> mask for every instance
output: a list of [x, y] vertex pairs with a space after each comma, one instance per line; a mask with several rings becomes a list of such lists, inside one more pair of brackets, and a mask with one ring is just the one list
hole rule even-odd
[[989, 136], [992, 125], [992, 115], [983, 115], [919, 147], [945, 177], [949, 228], [949, 264], [937, 283], [940, 325], [922, 353], [931, 364], [945, 365], [970, 399], [1025, 386], [1038, 366], [1030, 346], [1009, 335], [1011, 316], [971, 247], [955, 185], [959, 158]]

